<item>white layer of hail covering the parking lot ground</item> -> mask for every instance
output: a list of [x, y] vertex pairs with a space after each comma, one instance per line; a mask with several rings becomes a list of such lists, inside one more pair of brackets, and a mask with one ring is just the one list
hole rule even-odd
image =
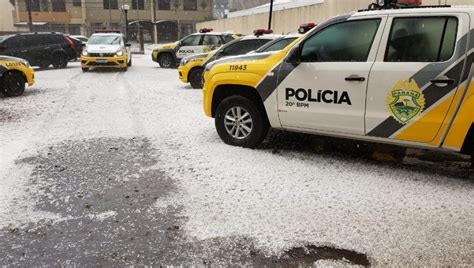
[[[304, 243], [369, 255], [379, 265], [473, 265], [474, 185], [431, 173], [302, 152], [224, 145], [202, 92], [149, 55], [126, 73], [36, 73], [24, 97], [0, 99], [0, 227], [56, 217], [29, 200], [31, 167], [15, 164], [68, 139], [144, 136], [179, 193], [189, 236], [244, 235], [269, 253]], [[23, 203], [19, 203], [21, 200]], [[103, 215], [110, 216], [110, 215]]]

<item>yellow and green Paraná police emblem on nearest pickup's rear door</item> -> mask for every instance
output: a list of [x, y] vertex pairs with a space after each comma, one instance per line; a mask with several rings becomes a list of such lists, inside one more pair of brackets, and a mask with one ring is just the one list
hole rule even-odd
[[398, 81], [387, 97], [387, 110], [400, 124], [407, 124], [425, 109], [425, 96], [415, 80]]

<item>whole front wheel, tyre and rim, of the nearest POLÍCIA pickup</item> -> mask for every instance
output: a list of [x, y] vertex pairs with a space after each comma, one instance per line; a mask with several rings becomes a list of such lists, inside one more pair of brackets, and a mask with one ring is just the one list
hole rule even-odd
[[215, 124], [224, 143], [244, 148], [259, 145], [269, 129], [264, 111], [242, 96], [227, 97], [219, 104]]

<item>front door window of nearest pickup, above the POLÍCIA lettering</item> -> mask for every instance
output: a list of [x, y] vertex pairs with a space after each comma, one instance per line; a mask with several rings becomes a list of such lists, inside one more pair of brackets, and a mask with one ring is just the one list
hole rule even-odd
[[316, 33], [303, 44], [303, 62], [364, 62], [380, 25], [380, 19], [338, 23]]

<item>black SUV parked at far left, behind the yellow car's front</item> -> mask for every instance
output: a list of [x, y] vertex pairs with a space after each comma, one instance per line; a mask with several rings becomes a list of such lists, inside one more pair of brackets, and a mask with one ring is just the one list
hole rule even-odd
[[21, 33], [0, 36], [0, 55], [28, 60], [32, 66], [66, 68], [77, 58], [74, 42], [61, 33]]

